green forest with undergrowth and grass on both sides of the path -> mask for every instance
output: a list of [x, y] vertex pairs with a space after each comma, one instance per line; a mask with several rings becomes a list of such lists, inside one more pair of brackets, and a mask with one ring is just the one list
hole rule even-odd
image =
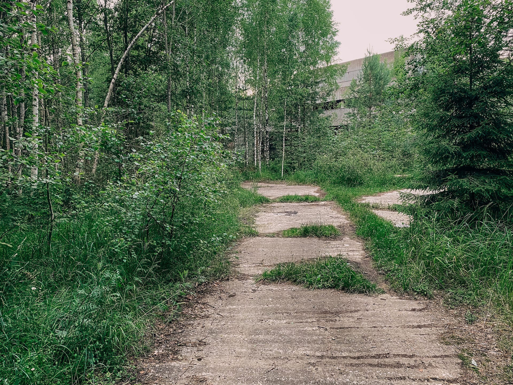
[[[333, 102], [329, 0], [0, 1], [0, 380], [134, 383], [258, 235], [241, 182], [281, 181], [321, 186], [393, 291], [495, 325], [461, 383], [511, 383], [513, 2], [410, 3]], [[431, 192], [409, 227], [355, 201], [405, 188]]]

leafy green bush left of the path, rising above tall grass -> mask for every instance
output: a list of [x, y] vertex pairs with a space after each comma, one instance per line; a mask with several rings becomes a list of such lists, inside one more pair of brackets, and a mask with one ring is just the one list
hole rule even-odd
[[133, 172], [106, 186], [104, 224], [123, 228], [120, 237], [127, 240], [151, 233], [147, 242], [157, 249], [167, 245], [179, 247], [180, 254], [193, 253], [202, 225], [214, 220], [205, 208], [217, 204], [227, 189], [230, 155], [223, 139], [214, 118], [173, 114], [166, 133], [143, 140], [128, 156], [125, 167]]

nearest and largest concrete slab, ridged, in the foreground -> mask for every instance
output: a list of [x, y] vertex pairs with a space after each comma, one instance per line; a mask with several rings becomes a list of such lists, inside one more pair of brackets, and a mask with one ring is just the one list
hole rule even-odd
[[438, 342], [448, 320], [423, 301], [233, 280], [160, 347], [137, 380], [159, 384], [458, 383], [461, 361]]

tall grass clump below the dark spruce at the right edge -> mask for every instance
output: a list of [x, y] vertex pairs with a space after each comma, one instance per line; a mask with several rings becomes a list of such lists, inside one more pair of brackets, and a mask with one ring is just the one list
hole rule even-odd
[[[417, 215], [410, 228], [387, 238], [396, 247], [375, 247], [374, 260], [401, 290], [430, 294], [445, 289], [474, 305], [490, 299], [513, 305], [508, 224], [487, 216], [466, 221]], [[390, 244], [387, 238], [381, 242]]]

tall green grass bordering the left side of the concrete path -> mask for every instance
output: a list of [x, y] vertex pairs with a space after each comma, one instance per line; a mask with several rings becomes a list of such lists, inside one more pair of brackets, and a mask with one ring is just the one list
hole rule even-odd
[[51, 248], [45, 223], [10, 233], [0, 245], [2, 382], [114, 381], [151, 343], [154, 317], [167, 319], [184, 295], [229, 272], [224, 251], [246, 231], [240, 209], [260, 201], [234, 187], [200, 207], [201, 223], [182, 227], [175, 244], [121, 237], [123, 221], [104, 220], [116, 213], [96, 209], [61, 217]]

